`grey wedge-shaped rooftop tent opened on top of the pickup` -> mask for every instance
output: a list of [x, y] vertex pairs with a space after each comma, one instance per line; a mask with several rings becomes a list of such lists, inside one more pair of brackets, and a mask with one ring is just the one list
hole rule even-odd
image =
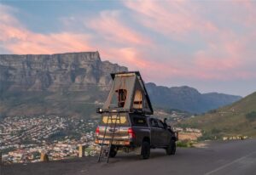
[[111, 74], [113, 84], [103, 110], [154, 113], [142, 76], [138, 71]]

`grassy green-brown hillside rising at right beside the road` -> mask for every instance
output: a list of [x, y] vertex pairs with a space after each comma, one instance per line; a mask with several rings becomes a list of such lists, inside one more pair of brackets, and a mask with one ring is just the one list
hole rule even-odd
[[247, 135], [256, 137], [256, 93], [203, 116], [182, 123], [183, 127], [204, 130], [205, 137]]

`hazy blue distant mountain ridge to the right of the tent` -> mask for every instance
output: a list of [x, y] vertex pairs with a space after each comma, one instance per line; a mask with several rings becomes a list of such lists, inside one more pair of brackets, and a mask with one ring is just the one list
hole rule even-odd
[[240, 96], [223, 93], [199, 93], [195, 88], [185, 86], [166, 88], [152, 82], [147, 83], [146, 88], [154, 105], [191, 113], [207, 112], [241, 99]]

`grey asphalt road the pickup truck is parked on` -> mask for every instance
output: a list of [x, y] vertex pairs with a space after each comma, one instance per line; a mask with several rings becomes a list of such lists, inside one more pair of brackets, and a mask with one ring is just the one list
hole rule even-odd
[[137, 174], [256, 174], [256, 140], [210, 142], [207, 148], [177, 148], [176, 155], [152, 150], [148, 160], [136, 155], [119, 154], [109, 163], [96, 163], [85, 157], [48, 163], [2, 166], [0, 175], [137, 175]]

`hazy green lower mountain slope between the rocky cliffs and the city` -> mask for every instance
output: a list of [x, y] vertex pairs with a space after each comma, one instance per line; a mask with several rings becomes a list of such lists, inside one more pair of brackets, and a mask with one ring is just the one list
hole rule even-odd
[[[96, 94], [96, 95], [94, 95]], [[6, 92], [0, 94], [0, 120], [5, 116], [82, 116], [96, 117], [96, 99], [106, 99], [107, 93], [98, 89], [84, 92]]]

